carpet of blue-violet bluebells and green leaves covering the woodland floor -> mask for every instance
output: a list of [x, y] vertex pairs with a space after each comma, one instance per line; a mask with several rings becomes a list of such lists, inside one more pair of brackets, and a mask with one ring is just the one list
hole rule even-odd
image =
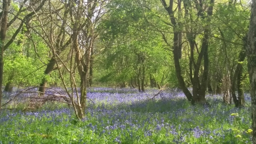
[[235, 108], [221, 95], [207, 95], [210, 106], [191, 106], [178, 90], [151, 99], [157, 92], [90, 88], [83, 121], [58, 102], [24, 110], [22, 100], [33, 93], [22, 93], [1, 111], [0, 143], [251, 143], [249, 94], [245, 107]]

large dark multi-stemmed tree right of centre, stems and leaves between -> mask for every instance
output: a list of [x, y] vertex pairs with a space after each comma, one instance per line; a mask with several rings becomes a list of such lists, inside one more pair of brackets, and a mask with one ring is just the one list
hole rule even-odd
[[[180, 84], [180, 87], [182, 91], [185, 93], [187, 99], [191, 103], [206, 103], [205, 100], [205, 91], [207, 88], [207, 79], [208, 79], [208, 73], [209, 73], [209, 56], [208, 56], [208, 49], [209, 49], [209, 35], [211, 34], [211, 16], [213, 14], [213, 5], [214, 0], [211, 0], [210, 3], [205, 3], [202, 1], [195, 1], [195, 11], [192, 10], [193, 3], [191, 1], [184, 1], [183, 2], [183, 9], [185, 10], [185, 22], [189, 23], [189, 25], [185, 25], [185, 29], [187, 30], [186, 36], [190, 45], [190, 62], [189, 62], [189, 77], [191, 84], [193, 86], [193, 92], [192, 94], [187, 89], [187, 86], [185, 84], [184, 78], [181, 73], [181, 66], [180, 66], [180, 59], [182, 58], [182, 31], [183, 31], [183, 25], [181, 20], [181, 4], [182, 1], [177, 1], [177, 6], [174, 8], [174, 1], [170, 0], [169, 4], [166, 3], [165, 0], [161, 0], [162, 5], [164, 6], [164, 9], [166, 10], [167, 14], [169, 15], [169, 20], [171, 22], [172, 31], [173, 31], [173, 44], [170, 45], [171, 50], [173, 52], [174, 57], [174, 66], [176, 75]], [[177, 8], [178, 11], [177, 11]], [[206, 11], [204, 11], [206, 10]], [[193, 12], [196, 12], [195, 18], [191, 15], [193, 15]], [[195, 29], [192, 23], [195, 21], [202, 22], [203, 27], [203, 37], [202, 37], [202, 44], [201, 44], [201, 50], [198, 51], [198, 57], [197, 60], [194, 59], [194, 51], [196, 45], [196, 31], [199, 29]], [[201, 23], [201, 25], [202, 25]], [[196, 24], [196, 26], [199, 23]], [[169, 24], [170, 25], [170, 24]], [[163, 33], [162, 33], [163, 34]], [[163, 34], [164, 41], [167, 43], [167, 38]], [[204, 61], [204, 64], [202, 66], [202, 61]], [[203, 74], [202, 78], [199, 77], [199, 72], [201, 67], [203, 67]], [[201, 81], [200, 81], [201, 80]]]

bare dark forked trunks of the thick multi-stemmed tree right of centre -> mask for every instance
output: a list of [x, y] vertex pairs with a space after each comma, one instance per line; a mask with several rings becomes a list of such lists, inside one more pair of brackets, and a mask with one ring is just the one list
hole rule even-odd
[[[206, 91], [206, 87], [207, 87], [207, 77], [208, 77], [208, 73], [209, 73], [209, 58], [208, 58], [208, 41], [209, 41], [209, 33], [210, 33], [210, 25], [208, 24], [207, 27], [204, 28], [204, 38], [203, 38], [203, 43], [202, 43], [202, 47], [201, 47], [201, 51], [198, 55], [197, 61], [196, 63], [194, 62], [194, 59], [191, 57], [194, 57], [194, 55], [190, 55], [190, 63], [189, 63], [189, 69], [190, 69], [190, 79], [192, 81], [193, 84], [193, 95], [189, 92], [189, 90], [186, 87], [185, 81], [182, 77], [181, 74], [181, 67], [180, 67], [180, 62], [179, 59], [181, 58], [181, 48], [182, 48], [182, 43], [181, 43], [181, 39], [182, 39], [182, 35], [180, 34], [182, 31], [182, 25], [180, 25], [179, 22], [176, 21], [177, 17], [175, 17], [175, 11], [176, 9], [173, 11], [173, 1], [169, 2], [169, 5], [167, 5], [165, 0], [161, 0], [165, 10], [168, 12], [169, 14], [169, 18], [170, 21], [173, 25], [173, 59], [174, 59], [174, 66], [175, 66], [175, 72], [178, 78], [178, 82], [180, 84], [180, 87], [183, 91], [183, 93], [186, 95], [187, 99], [191, 102], [191, 103], [195, 103], [195, 102], [199, 102], [199, 103], [206, 103], [205, 100], [205, 91]], [[199, 1], [198, 4], [198, 13], [197, 16], [198, 18], [202, 18], [205, 19], [207, 18], [207, 22], [211, 22], [210, 17], [212, 15], [212, 11], [213, 11], [213, 4], [214, 4], [214, 0], [210, 1], [210, 5], [207, 7], [207, 15], [205, 13], [203, 13], [203, 3], [202, 1]], [[178, 19], [180, 17], [180, 10], [181, 10], [181, 1], [178, 1]], [[190, 7], [189, 2], [184, 3], [184, 7], [185, 7], [185, 15], [189, 15], [188, 14], [188, 9]], [[187, 7], [187, 8], [186, 8]], [[193, 18], [191, 18], [193, 19]], [[188, 20], [188, 19], [187, 19]], [[193, 33], [193, 31], [191, 31]], [[164, 41], [167, 43], [166, 41], [166, 37], [163, 35], [163, 39]], [[191, 36], [191, 35], [189, 35]], [[194, 36], [192, 36], [189, 41], [190, 41], [190, 45], [191, 47], [194, 47], [194, 44], [191, 43], [192, 39]], [[167, 43], [168, 44], [168, 43]], [[193, 51], [194, 52], [194, 51]], [[192, 52], [192, 53], [193, 53]], [[199, 69], [201, 67], [201, 62], [202, 59], [204, 58], [205, 64], [204, 64], [204, 72], [203, 72], [203, 79], [202, 82], [200, 83], [199, 81]], [[194, 64], [194, 77], [192, 78], [192, 73], [193, 71], [191, 70]], [[202, 84], [202, 85], [201, 85]], [[201, 88], [202, 87], [202, 88]]]

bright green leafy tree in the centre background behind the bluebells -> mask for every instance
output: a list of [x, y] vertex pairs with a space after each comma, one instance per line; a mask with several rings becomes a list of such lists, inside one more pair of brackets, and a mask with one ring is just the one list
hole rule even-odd
[[[163, 84], [162, 65], [166, 58], [161, 34], [144, 19], [138, 1], [111, 1], [105, 19], [101, 21], [101, 43], [104, 46], [98, 60], [103, 61], [100, 69], [107, 73], [101, 82], [115, 82], [120, 86], [128, 83], [145, 92], [148, 79], [151, 83]], [[169, 74], [169, 73], [165, 73]], [[161, 77], [161, 78], [159, 78]]]

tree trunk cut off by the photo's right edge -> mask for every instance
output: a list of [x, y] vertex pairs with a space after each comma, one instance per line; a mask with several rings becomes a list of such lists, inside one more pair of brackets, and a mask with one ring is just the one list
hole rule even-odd
[[256, 1], [252, 1], [251, 21], [247, 38], [247, 60], [252, 100], [252, 142], [256, 144]]

